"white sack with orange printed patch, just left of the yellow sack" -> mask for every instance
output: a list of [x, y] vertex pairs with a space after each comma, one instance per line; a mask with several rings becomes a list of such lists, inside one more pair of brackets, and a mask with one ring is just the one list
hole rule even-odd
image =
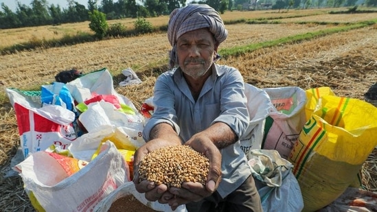
[[274, 107], [266, 117], [262, 149], [277, 150], [286, 159], [306, 123], [306, 93], [297, 86], [267, 88], [264, 91]]

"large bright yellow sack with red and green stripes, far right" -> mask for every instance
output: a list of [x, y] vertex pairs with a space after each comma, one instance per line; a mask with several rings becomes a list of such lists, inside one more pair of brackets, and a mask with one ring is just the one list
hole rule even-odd
[[325, 95], [299, 134], [288, 161], [304, 199], [303, 211], [336, 200], [377, 145], [377, 108], [359, 99]]

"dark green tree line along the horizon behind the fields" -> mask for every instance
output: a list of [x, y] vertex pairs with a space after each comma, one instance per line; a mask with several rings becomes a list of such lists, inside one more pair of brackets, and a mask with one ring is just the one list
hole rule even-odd
[[[271, 9], [352, 6], [357, 0], [198, 0], [190, 3], [207, 3], [223, 14], [226, 10], [255, 10], [258, 5], [272, 5]], [[186, 0], [88, 0], [82, 5], [67, 0], [68, 7], [49, 4], [47, 0], [33, 0], [30, 5], [17, 1], [12, 11], [1, 3], [0, 29], [60, 25], [89, 21], [94, 10], [106, 14], [107, 20], [167, 15], [175, 8], [185, 6]], [[367, 6], [377, 6], [377, 0], [365, 0]], [[262, 7], [259, 7], [262, 8]], [[263, 9], [263, 8], [262, 8]], [[264, 8], [265, 9], [265, 8]]]

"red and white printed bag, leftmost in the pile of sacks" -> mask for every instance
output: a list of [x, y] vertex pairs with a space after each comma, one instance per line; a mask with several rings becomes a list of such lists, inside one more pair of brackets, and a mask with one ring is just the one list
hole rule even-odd
[[41, 91], [6, 89], [16, 113], [23, 156], [51, 145], [66, 149], [78, 136], [75, 113], [55, 104], [43, 104]]

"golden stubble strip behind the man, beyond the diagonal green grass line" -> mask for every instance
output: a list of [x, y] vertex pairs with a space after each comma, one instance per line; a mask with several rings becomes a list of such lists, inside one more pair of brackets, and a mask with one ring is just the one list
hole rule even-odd
[[[293, 36], [328, 28], [327, 25], [227, 25], [229, 39], [220, 48], [242, 47], [249, 43], [275, 40], [282, 36]], [[331, 27], [331, 26], [330, 26]], [[23, 51], [19, 54], [0, 57], [1, 83], [5, 87], [30, 86], [30, 83], [52, 82], [58, 71], [76, 67], [87, 73], [106, 67], [119, 73], [127, 67], [139, 67], [143, 71], [157, 61], [168, 58], [170, 44], [165, 33], [150, 34], [131, 38], [82, 43], [67, 47]], [[30, 75], [30, 72], [33, 74]], [[25, 84], [24, 82], [28, 82]]]

